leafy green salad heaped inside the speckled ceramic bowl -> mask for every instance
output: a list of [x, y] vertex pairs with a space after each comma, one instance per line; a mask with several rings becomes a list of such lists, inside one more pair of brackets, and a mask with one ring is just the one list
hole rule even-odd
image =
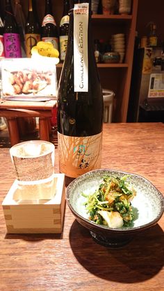
[[99, 188], [92, 194], [84, 194], [89, 219], [111, 228], [129, 226], [134, 219], [131, 200], [136, 190], [126, 182], [128, 176], [104, 176]]

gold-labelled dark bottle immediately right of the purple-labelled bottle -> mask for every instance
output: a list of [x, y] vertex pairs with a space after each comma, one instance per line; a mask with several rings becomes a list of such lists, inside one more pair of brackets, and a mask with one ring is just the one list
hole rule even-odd
[[40, 41], [40, 26], [33, 13], [33, 1], [29, 0], [28, 18], [25, 28], [26, 56], [31, 58], [31, 49]]

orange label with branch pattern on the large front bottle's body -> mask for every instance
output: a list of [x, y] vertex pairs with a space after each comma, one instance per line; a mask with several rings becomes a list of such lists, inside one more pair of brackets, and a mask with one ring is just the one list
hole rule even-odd
[[72, 137], [58, 133], [60, 172], [77, 178], [101, 167], [102, 133]]

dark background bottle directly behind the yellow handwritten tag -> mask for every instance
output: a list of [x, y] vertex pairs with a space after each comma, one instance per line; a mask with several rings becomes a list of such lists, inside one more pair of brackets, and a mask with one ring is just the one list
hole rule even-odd
[[58, 30], [55, 19], [52, 15], [51, 0], [45, 2], [45, 13], [42, 21], [42, 41], [51, 42], [55, 49], [58, 49]]

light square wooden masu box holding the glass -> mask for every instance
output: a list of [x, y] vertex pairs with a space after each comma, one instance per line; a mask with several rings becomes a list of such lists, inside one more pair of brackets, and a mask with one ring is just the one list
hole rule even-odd
[[65, 175], [54, 174], [51, 199], [15, 201], [16, 181], [2, 202], [8, 233], [61, 233], [65, 213]]

